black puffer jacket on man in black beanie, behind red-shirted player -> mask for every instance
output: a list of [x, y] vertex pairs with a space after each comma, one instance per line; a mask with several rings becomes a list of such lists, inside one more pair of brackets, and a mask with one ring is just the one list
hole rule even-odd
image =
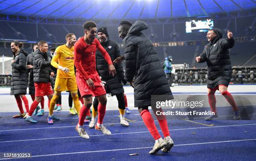
[[[104, 43], [100, 43], [105, 50], [108, 52], [112, 61], [114, 61], [117, 57], [120, 56], [120, 49], [118, 43], [114, 40], [110, 40], [108, 38]], [[108, 63], [105, 61], [104, 57], [100, 53], [100, 51], [96, 51], [96, 69], [99, 73], [100, 77], [102, 77], [102, 81], [107, 82], [105, 85], [105, 89], [107, 93], [111, 93], [111, 95], [117, 95], [124, 93], [123, 85], [121, 81], [126, 84], [126, 80], [124, 78], [123, 73], [123, 65], [122, 64], [114, 64], [117, 74], [113, 77], [108, 72]]]

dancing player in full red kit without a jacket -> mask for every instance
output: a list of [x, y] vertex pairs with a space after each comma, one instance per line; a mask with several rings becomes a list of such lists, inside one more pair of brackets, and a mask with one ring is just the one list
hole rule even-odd
[[96, 23], [87, 21], [84, 23], [83, 27], [84, 36], [80, 38], [74, 46], [74, 64], [77, 68], [77, 85], [84, 100], [76, 130], [82, 138], [88, 139], [89, 135], [84, 131], [83, 125], [87, 111], [92, 106], [92, 96], [97, 97], [100, 102], [98, 106], [98, 121], [97, 125], [95, 125], [95, 129], [100, 130], [105, 135], [111, 134], [111, 132], [102, 125], [106, 112], [107, 98], [104, 85], [96, 71], [96, 49], [102, 53], [105, 60], [108, 62], [109, 74], [114, 76], [116, 71], [107, 51], [105, 51], [97, 38], [95, 38], [97, 33]]

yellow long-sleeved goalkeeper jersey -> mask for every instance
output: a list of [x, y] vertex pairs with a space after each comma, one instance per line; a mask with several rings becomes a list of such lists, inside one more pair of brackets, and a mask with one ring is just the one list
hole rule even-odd
[[69, 69], [68, 73], [57, 70], [57, 77], [59, 78], [71, 78], [75, 77], [74, 73], [74, 46], [68, 48], [66, 44], [58, 46], [54, 52], [54, 56], [51, 59], [51, 65], [55, 68], [58, 66], [67, 67]]

